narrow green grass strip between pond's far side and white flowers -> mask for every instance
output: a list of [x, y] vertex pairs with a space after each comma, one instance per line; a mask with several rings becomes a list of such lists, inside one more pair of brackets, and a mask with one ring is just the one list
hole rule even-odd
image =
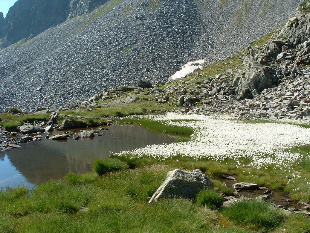
[[180, 127], [180, 126], [171, 126], [162, 124], [162, 122], [159, 121], [153, 121], [147, 118], [121, 118], [117, 119], [118, 122], [122, 123], [129, 123], [134, 122], [135, 124], [138, 124], [140, 126], [143, 126], [147, 128], [148, 130], [152, 130], [155, 132], [163, 132], [168, 134], [175, 134], [175, 135], [187, 135], [190, 136], [193, 134], [194, 130], [188, 127]]

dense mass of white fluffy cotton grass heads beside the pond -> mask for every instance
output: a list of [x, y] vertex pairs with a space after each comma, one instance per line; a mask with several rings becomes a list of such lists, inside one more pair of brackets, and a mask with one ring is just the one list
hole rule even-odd
[[310, 144], [310, 129], [291, 124], [247, 124], [225, 116], [177, 113], [142, 117], [161, 121], [162, 124], [190, 127], [194, 130], [192, 140], [148, 145], [133, 151], [117, 153], [118, 156], [133, 154], [137, 157], [150, 157], [158, 160], [166, 160], [179, 155], [197, 161], [200, 159], [214, 161], [232, 159], [237, 162], [236, 167], [251, 166], [262, 169], [273, 165], [282, 171], [291, 171], [306, 155], [292, 153], [288, 149]]

